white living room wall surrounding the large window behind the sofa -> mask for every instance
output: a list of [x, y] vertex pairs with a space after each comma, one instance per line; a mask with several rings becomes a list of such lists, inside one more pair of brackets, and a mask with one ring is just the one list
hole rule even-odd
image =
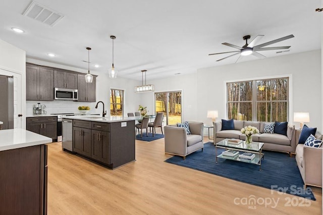
[[[218, 110], [219, 120], [226, 118], [226, 81], [291, 75], [289, 123], [299, 127], [293, 122], [293, 112], [309, 112], [310, 123], [306, 124], [322, 131], [321, 50], [199, 69], [197, 74], [197, 102], [205, 103], [201, 111]], [[207, 120], [205, 114], [200, 120]]]

